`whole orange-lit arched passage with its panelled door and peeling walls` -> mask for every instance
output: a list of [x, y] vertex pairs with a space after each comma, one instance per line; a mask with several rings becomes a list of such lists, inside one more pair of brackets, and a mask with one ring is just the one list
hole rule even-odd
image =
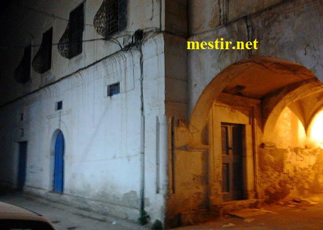
[[[202, 210], [210, 215], [225, 213], [316, 191], [314, 185], [323, 178], [318, 174], [323, 160], [316, 156], [321, 151], [323, 157], [323, 150], [295, 140], [303, 138], [312, 114], [323, 105], [317, 103], [321, 94], [315, 75], [287, 60], [254, 57], [224, 69], [192, 107], [187, 145], [183, 145], [183, 128], [176, 129], [175, 139], [182, 145], [174, 151], [176, 170], [171, 176], [176, 193], [169, 199], [168, 213], [181, 212], [180, 221], [185, 222], [192, 216], [203, 218]], [[278, 128], [291, 124], [291, 129], [283, 126], [275, 132], [286, 106], [290, 107]], [[292, 147], [278, 146], [273, 140]], [[310, 171], [312, 162], [317, 164]], [[308, 182], [308, 178], [315, 179]]]

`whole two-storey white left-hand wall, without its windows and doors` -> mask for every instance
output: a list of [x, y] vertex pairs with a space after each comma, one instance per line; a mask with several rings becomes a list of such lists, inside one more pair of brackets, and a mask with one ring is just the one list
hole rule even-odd
[[[155, 31], [163, 26], [160, 2], [128, 1], [126, 31], [116, 36], [129, 38], [139, 28]], [[68, 19], [69, 12], [80, 3], [21, 1], [20, 4]], [[98, 39], [100, 35], [91, 24], [101, 1], [84, 3], [83, 40]], [[0, 182], [17, 185], [18, 142], [28, 141], [26, 191], [136, 220], [142, 165], [140, 51], [134, 48], [123, 53], [116, 44], [98, 40], [83, 43], [82, 54], [67, 59], [59, 54], [56, 45], [66, 28], [66, 20], [15, 5], [8, 8], [2, 20], [5, 17], [9, 24], [4, 27], [1, 41], [19, 47], [0, 55]], [[51, 69], [44, 74], [31, 69], [31, 81], [24, 85], [17, 83], [13, 73], [21, 61], [23, 47], [40, 44], [43, 32], [50, 27], [53, 27], [54, 44]], [[119, 39], [121, 43], [123, 38]], [[38, 48], [32, 48], [31, 59], [37, 51]], [[142, 60], [145, 210], [153, 220], [163, 220], [167, 124], [162, 34], [148, 32], [142, 45]], [[117, 82], [120, 94], [107, 97], [107, 85]], [[63, 101], [62, 110], [55, 110], [58, 101]], [[19, 120], [20, 113], [24, 114], [23, 121]], [[58, 129], [65, 139], [62, 196], [49, 193], [53, 190], [54, 142]]]

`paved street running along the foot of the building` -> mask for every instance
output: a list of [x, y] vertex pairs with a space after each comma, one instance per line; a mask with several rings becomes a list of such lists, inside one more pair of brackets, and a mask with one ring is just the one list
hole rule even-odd
[[[58, 230], [63, 229], [151, 229], [87, 210], [53, 203], [21, 193], [0, 196], [0, 201], [30, 209], [50, 219]], [[212, 229], [323, 229], [323, 195], [295, 199], [265, 206], [262, 209], [244, 209], [220, 217], [212, 222], [173, 230]]]

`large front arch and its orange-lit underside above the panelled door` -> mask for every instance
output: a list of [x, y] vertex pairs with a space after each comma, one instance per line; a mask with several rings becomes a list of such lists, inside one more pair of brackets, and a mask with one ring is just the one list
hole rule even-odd
[[203, 130], [208, 121], [208, 112], [222, 92], [262, 99], [284, 87], [286, 94], [289, 92], [287, 86], [304, 85], [313, 79], [314, 74], [306, 67], [273, 57], [254, 57], [228, 66], [205, 87], [192, 110], [190, 144], [205, 144], [202, 137], [205, 135]]

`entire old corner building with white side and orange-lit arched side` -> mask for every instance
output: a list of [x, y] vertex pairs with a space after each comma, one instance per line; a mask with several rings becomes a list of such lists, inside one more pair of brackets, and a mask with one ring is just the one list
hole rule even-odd
[[[166, 227], [323, 191], [321, 1], [30, 0], [1, 25], [2, 185]], [[258, 46], [187, 49], [221, 39]]]

